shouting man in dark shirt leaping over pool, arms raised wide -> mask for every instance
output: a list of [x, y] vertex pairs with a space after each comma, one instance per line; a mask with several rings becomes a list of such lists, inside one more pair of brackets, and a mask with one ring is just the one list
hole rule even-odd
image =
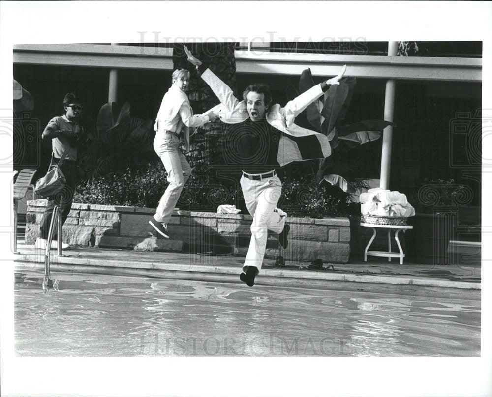
[[216, 113], [223, 122], [232, 124], [227, 131], [224, 157], [235, 160], [242, 168], [241, 188], [253, 222], [240, 279], [253, 286], [263, 264], [268, 230], [278, 233], [283, 248], [288, 245], [290, 227], [285, 225], [286, 214], [277, 209], [282, 184], [276, 169], [292, 161], [325, 158], [331, 154], [330, 143], [324, 134], [301, 128], [294, 124], [294, 119], [330, 85], [339, 84], [346, 66], [338, 76], [315, 85], [281, 107], [272, 105], [270, 88], [265, 84], [247, 86], [240, 102], [231, 88], [205, 63], [186, 47], [184, 50], [188, 61], [197, 67], [201, 78], [220, 100], [220, 104], [208, 112]]

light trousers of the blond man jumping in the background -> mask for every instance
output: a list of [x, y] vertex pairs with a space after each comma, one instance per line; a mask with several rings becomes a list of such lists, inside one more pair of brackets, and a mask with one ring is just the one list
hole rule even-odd
[[169, 182], [155, 210], [154, 219], [158, 222], [169, 222], [183, 186], [191, 175], [191, 167], [179, 146], [180, 139], [176, 134], [155, 134], [154, 150], [164, 164]]

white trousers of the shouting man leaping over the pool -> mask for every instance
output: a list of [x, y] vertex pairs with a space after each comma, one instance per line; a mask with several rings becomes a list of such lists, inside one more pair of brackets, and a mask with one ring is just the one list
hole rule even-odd
[[277, 175], [262, 180], [251, 180], [242, 176], [241, 188], [247, 210], [253, 217], [251, 240], [243, 271], [246, 272], [249, 266], [254, 266], [260, 271], [267, 246], [268, 230], [280, 233], [285, 224], [285, 217], [274, 212], [282, 193], [282, 184]]

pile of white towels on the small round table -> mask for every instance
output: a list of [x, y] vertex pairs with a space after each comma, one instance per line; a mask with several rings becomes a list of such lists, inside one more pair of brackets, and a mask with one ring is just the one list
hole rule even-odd
[[415, 215], [406, 195], [381, 188], [369, 189], [359, 197], [363, 215], [409, 217]]

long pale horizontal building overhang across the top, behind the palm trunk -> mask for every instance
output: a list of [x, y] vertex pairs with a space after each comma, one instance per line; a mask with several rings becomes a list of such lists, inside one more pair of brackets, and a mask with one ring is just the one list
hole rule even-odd
[[[14, 46], [14, 64], [173, 70], [172, 48], [105, 44], [28, 44]], [[342, 65], [347, 75], [370, 79], [481, 82], [482, 59], [457, 57], [389, 57], [236, 51], [237, 73], [334, 76]]]

